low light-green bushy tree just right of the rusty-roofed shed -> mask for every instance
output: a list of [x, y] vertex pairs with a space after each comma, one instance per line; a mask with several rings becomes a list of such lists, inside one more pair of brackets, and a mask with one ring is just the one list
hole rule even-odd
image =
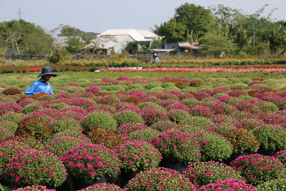
[[231, 54], [237, 51], [237, 44], [233, 43], [228, 37], [207, 34], [201, 38], [203, 53], [211, 56], [219, 56], [221, 52]]

